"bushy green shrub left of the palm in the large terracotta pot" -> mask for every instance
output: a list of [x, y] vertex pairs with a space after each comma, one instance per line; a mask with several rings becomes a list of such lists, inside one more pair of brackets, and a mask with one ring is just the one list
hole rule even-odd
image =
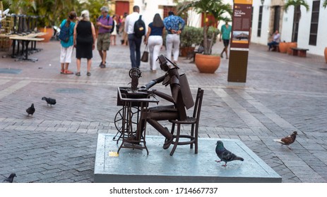
[[184, 27], [181, 34], [181, 56], [186, 57], [189, 52], [194, 51], [196, 45], [201, 44], [202, 31], [197, 27]]

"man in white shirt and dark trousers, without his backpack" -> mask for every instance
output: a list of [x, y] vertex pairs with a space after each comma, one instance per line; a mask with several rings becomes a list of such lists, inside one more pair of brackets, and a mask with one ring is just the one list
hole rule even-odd
[[140, 8], [138, 6], [133, 6], [133, 13], [127, 15], [125, 20], [125, 31], [127, 32], [129, 38], [129, 52], [132, 68], [140, 68], [141, 65], [140, 48], [142, 43], [142, 37], [136, 36], [134, 31], [134, 25], [139, 18], [142, 18], [140, 15]]

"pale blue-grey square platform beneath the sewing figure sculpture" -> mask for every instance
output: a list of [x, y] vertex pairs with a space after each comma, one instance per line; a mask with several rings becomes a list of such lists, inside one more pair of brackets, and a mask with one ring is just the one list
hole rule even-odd
[[[170, 148], [162, 149], [164, 138], [146, 136], [146, 151], [121, 148], [110, 134], [99, 134], [95, 156], [94, 182], [281, 182], [282, 178], [242, 141], [220, 139], [225, 147], [244, 158], [242, 161], [216, 163], [215, 144], [218, 139], [198, 139], [198, 154], [189, 146], [177, 146], [173, 156]], [[120, 144], [120, 143], [119, 143]]]

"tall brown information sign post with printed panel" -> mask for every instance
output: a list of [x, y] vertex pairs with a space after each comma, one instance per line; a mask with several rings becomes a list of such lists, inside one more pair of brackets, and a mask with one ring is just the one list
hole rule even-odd
[[228, 82], [246, 82], [252, 0], [234, 0]]

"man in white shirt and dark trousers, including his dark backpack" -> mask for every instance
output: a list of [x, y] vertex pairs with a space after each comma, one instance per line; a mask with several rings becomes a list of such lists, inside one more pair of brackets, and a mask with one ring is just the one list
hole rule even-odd
[[125, 31], [129, 37], [129, 52], [131, 68], [140, 68], [141, 65], [141, 43], [145, 35], [145, 23], [140, 15], [140, 7], [133, 6], [133, 13], [127, 15], [125, 20]]

